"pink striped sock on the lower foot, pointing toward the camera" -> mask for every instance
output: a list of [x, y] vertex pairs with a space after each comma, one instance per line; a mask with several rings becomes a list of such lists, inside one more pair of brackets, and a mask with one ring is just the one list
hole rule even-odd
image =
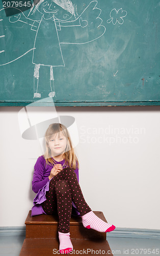
[[58, 231], [60, 240], [60, 253], [67, 254], [73, 250], [73, 245], [70, 241], [70, 233], [61, 233]]

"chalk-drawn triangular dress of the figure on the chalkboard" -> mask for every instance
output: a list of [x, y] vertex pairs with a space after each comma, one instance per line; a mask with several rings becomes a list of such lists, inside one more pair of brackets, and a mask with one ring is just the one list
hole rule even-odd
[[55, 20], [55, 17], [45, 19], [42, 16], [35, 37], [34, 64], [65, 67], [57, 30], [61, 30], [59, 20]]

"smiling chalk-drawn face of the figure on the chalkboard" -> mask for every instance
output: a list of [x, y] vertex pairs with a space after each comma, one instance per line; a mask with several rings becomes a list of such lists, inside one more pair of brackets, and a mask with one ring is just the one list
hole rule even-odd
[[64, 21], [72, 17], [72, 14], [62, 7], [54, 3], [52, 0], [44, 0], [42, 4], [38, 7], [38, 11], [42, 13], [45, 17], [55, 16], [57, 19]]

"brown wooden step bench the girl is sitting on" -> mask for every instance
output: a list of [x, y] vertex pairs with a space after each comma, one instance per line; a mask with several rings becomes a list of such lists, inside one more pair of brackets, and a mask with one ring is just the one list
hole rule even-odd
[[[94, 211], [94, 214], [106, 221], [101, 211]], [[25, 220], [26, 234], [20, 256], [61, 255], [59, 253], [58, 224], [58, 216], [31, 217], [30, 210]], [[70, 238], [73, 244], [73, 255], [100, 255], [103, 251], [103, 254], [113, 256], [108, 241], [106, 241], [106, 233], [85, 228], [81, 217], [71, 217]]]

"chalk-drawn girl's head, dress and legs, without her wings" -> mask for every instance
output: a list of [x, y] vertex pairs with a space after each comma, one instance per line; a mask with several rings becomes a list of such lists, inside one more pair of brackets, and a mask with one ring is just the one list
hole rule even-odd
[[[38, 80], [40, 66], [50, 67], [50, 89], [49, 97], [54, 97], [54, 73], [53, 67], [65, 67], [58, 30], [61, 29], [60, 22], [69, 20], [75, 16], [73, 4], [70, 0], [41, 0], [33, 9], [42, 14], [42, 18], [35, 37], [32, 63], [35, 64], [34, 70], [34, 97], [41, 97], [38, 93]], [[45, 29], [46, 28], [46, 29]], [[45, 46], [43, 50], [41, 45]], [[35, 80], [37, 86], [35, 88]]]

